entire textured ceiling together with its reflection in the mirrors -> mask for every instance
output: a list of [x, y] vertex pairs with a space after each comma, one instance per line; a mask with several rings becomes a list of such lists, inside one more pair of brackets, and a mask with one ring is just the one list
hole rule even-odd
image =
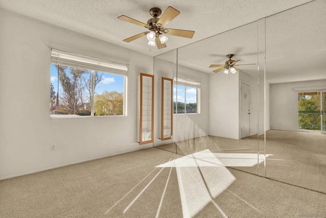
[[[151, 18], [150, 8], [164, 12], [168, 6], [181, 13], [166, 27], [193, 30], [193, 39], [169, 35], [167, 47], [152, 48], [151, 54], [146, 37], [122, 41], [147, 29], [119, 20], [118, 16], [146, 23]], [[261, 40], [262, 35], [257, 34], [254, 21], [267, 17], [266, 80], [279, 83], [326, 79], [325, 0], [0, 0], [0, 8], [146, 55], [157, 56], [181, 47], [179, 64], [211, 74], [215, 68], [208, 66], [223, 64], [227, 54], [235, 54], [233, 60], [241, 59], [239, 64], [257, 63], [257, 39]], [[259, 29], [263, 30], [261, 25]], [[169, 54], [161, 57], [169, 59]], [[257, 65], [239, 68], [257, 76]]]

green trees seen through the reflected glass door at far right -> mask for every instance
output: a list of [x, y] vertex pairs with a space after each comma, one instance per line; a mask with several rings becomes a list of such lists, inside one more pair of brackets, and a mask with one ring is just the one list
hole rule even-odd
[[300, 95], [298, 98], [299, 129], [320, 130], [320, 95]]

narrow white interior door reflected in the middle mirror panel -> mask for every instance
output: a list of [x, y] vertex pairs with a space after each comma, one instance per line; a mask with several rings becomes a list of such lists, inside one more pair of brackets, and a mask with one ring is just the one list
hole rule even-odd
[[248, 84], [241, 82], [240, 95], [240, 132], [241, 138], [246, 138], [250, 136], [250, 86]]

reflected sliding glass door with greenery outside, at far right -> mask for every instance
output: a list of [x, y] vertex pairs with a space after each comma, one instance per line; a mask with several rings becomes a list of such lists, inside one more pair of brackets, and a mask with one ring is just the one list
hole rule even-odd
[[298, 131], [325, 133], [324, 92], [298, 93]]

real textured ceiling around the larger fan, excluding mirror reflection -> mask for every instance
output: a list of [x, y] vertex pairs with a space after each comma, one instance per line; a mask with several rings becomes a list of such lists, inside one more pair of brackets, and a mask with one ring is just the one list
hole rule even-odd
[[[245, 25], [260, 18], [310, 2], [311, 0], [0, 0], [0, 8], [35, 18], [52, 25], [118, 44], [130, 50], [156, 56], [189, 43]], [[193, 39], [170, 36], [165, 49], [152, 49], [145, 37], [132, 42], [122, 40], [146, 29], [117, 19], [126, 15], [142, 22], [151, 16], [149, 9], [168, 6], [181, 14], [166, 27], [193, 30]]]

